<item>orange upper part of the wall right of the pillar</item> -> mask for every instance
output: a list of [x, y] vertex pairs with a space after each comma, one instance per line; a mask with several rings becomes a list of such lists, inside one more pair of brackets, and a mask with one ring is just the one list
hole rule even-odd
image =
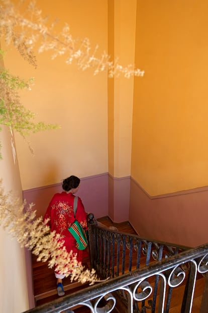
[[131, 176], [150, 195], [208, 185], [208, 2], [138, 1]]

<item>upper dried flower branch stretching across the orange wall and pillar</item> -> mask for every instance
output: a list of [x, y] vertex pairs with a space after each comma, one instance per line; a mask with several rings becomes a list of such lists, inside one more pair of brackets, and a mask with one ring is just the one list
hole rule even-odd
[[48, 19], [42, 17], [42, 12], [36, 7], [35, 1], [28, 1], [27, 8], [24, 6], [22, 12], [21, 4], [26, 5], [26, 1], [20, 1], [18, 7], [10, 0], [1, 0], [0, 3], [0, 38], [5, 39], [7, 44], [13, 43], [29, 64], [36, 67], [33, 49], [38, 46], [39, 52], [52, 50], [52, 59], [65, 55], [66, 64], [76, 61], [78, 68], [83, 71], [90, 67], [94, 68], [94, 75], [106, 70], [109, 77], [120, 74], [126, 78], [144, 75], [144, 71], [135, 69], [132, 65], [123, 67], [118, 60], [110, 61], [110, 56], [106, 52], [97, 57], [98, 47], [92, 51], [88, 38], [81, 42], [74, 39], [68, 24], [56, 33], [57, 21], [48, 26]]

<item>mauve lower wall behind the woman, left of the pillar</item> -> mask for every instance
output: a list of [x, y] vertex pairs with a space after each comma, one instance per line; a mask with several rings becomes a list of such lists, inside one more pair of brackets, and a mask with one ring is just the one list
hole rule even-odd
[[[23, 191], [27, 204], [35, 203], [37, 217], [44, 215], [55, 193], [62, 192], [61, 183]], [[92, 212], [96, 218], [108, 216], [108, 173], [81, 178], [77, 192], [86, 212]]]

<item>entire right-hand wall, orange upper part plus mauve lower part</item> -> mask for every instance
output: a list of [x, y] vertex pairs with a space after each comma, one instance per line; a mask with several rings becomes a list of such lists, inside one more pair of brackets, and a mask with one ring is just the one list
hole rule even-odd
[[143, 237], [207, 242], [208, 2], [137, 1], [129, 221]]

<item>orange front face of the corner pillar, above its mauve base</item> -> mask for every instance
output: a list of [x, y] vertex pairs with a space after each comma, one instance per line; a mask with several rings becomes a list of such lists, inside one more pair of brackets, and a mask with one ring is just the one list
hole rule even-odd
[[[115, 1], [115, 61], [124, 67], [134, 64], [136, 0]], [[134, 77], [114, 77], [114, 176], [131, 172]]]

